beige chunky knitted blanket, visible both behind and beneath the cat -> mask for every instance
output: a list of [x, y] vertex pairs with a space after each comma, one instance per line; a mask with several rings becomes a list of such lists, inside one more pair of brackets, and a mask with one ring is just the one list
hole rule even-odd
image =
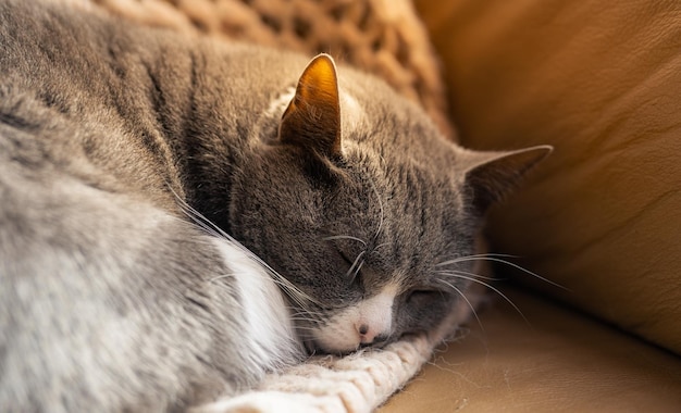
[[[387, 80], [454, 138], [438, 66], [409, 0], [54, 0], [97, 7], [191, 36], [218, 36], [327, 52]], [[469, 298], [471, 300], [471, 298]], [[370, 412], [401, 389], [435, 347], [468, 318], [468, 306], [428, 336], [345, 358], [310, 359], [270, 374], [259, 389], [196, 412]]]

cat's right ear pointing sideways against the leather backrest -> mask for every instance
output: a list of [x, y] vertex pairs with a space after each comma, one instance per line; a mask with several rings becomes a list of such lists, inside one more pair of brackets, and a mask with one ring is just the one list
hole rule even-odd
[[510, 152], [469, 153], [466, 157], [466, 183], [472, 190], [475, 208], [486, 211], [553, 150], [550, 146], [537, 146]]

